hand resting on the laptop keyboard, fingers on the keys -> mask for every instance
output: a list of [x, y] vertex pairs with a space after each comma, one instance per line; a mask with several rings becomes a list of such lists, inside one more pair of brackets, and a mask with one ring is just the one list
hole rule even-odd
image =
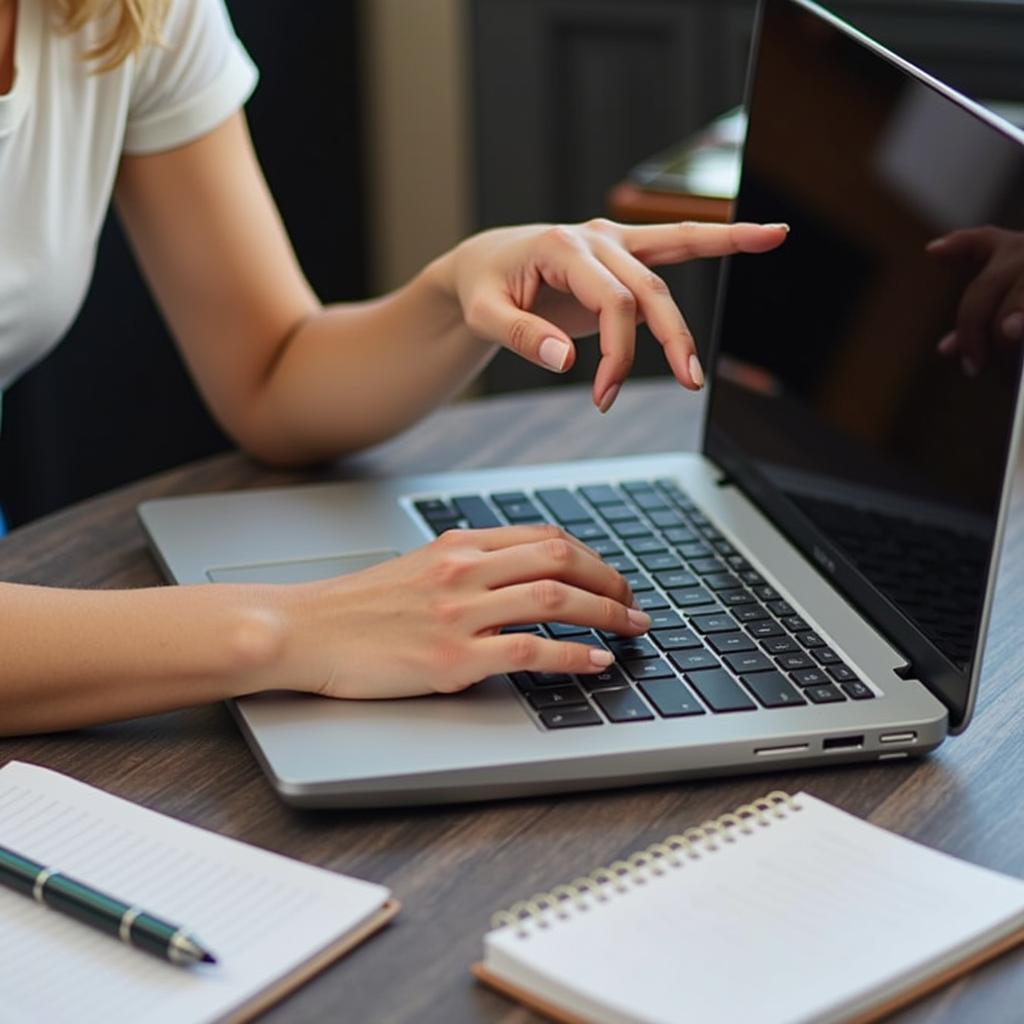
[[272, 685], [332, 697], [451, 693], [521, 670], [597, 673], [609, 651], [500, 630], [557, 621], [637, 636], [650, 626], [626, 581], [552, 525], [451, 530], [270, 599], [283, 601], [287, 666], [268, 667]]

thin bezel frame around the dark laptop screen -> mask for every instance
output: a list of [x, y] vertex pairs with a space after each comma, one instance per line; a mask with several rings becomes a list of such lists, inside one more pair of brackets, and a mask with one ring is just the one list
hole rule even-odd
[[[746, 75], [745, 103], [748, 110], [751, 109], [756, 73], [762, 52], [764, 22], [770, 8], [782, 5], [798, 7], [819, 17], [833, 29], [844, 33], [881, 59], [895, 67], [902, 74], [916, 79], [945, 99], [962, 108], [966, 113], [1024, 145], [1024, 132], [1002, 121], [979, 103], [961, 95], [956, 90], [922, 71], [915, 65], [893, 53], [863, 32], [848, 25], [841, 17], [813, 3], [812, 0], [760, 0]], [[737, 206], [739, 197], [742, 196], [742, 188], [741, 174], [737, 191]], [[719, 354], [725, 304], [728, 301], [731, 262], [732, 257], [723, 261], [719, 278], [709, 352], [709, 365], [712, 369], [714, 369]], [[1012, 418], [1012, 434], [1007, 445], [1002, 488], [983, 591], [975, 655], [971, 662], [971, 672], [966, 674], [945, 657], [909, 618], [876, 590], [839, 548], [814, 529], [810, 521], [800, 515], [793, 504], [773, 487], [735, 446], [716, 432], [711, 419], [714, 407], [715, 374], [709, 374], [709, 394], [701, 423], [701, 453], [717, 466], [720, 466], [725, 471], [728, 481], [735, 484], [797, 547], [817, 571], [825, 577], [831, 586], [849, 600], [858, 612], [863, 614], [897, 650], [901, 651], [905, 657], [905, 665], [898, 667], [900, 675], [907, 679], [916, 679], [945, 705], [949, 711], [949, 731], [954, 734], [963, 732], [967, 728], [977, 702], [978, 681], [983, 665], [982, 655], [995, 591], [996, 567], [1002, 547], [1014, 472], [1019, 455], [1022, 420], [1024, 420], [1024, 401], [1021, 397], [1022, 380], [1024, 380], [1024, 360], [1021, 362], [1018, 378], [1017, 399]]]

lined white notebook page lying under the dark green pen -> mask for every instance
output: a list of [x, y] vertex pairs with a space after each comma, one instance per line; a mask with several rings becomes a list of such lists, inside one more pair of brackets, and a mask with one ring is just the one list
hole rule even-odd
[[193, 930], [219, 959], [176, 967], [0, 889], [4, 1024], [214, 1020], [388, 896], [18, 762], [0, 770], [0, 844]]

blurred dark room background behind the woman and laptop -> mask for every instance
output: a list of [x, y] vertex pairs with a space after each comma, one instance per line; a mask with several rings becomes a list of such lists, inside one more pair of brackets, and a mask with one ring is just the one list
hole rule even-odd
[[[394, 288], [497, 224], [728, 215], [737, 122], [700, 133], [742, 101], [754, 0], [228, 6], [262, 73], [249, 106], [257, 150], [325, 301]], [[1024, 0], [830, 7], [1021, 118]], [[700, 343], [716, 273], [701, 264], [667, 274]], [[4, 396], [0, 500], [12, 525], [229, 446], [113, 221], [71, 335]], [[582, 345], [578, 367], [557, 378], [503, 353], [475, 393], [586, 380], [595, 347]], [[637, 373], [664, 373], [654, 343], [641, 344]]]

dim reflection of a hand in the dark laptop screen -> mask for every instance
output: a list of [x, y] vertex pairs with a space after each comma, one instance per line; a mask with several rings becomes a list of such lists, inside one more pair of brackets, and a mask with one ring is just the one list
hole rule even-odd
[[972, 227], [936, 239], [927, 248], [976, 270], [961, 298], [955, 330], [939, 342], [939, 351], [958, 355], [964, 372], [974, 377], [993, 345], [1024, 340], [1024, 232]]

